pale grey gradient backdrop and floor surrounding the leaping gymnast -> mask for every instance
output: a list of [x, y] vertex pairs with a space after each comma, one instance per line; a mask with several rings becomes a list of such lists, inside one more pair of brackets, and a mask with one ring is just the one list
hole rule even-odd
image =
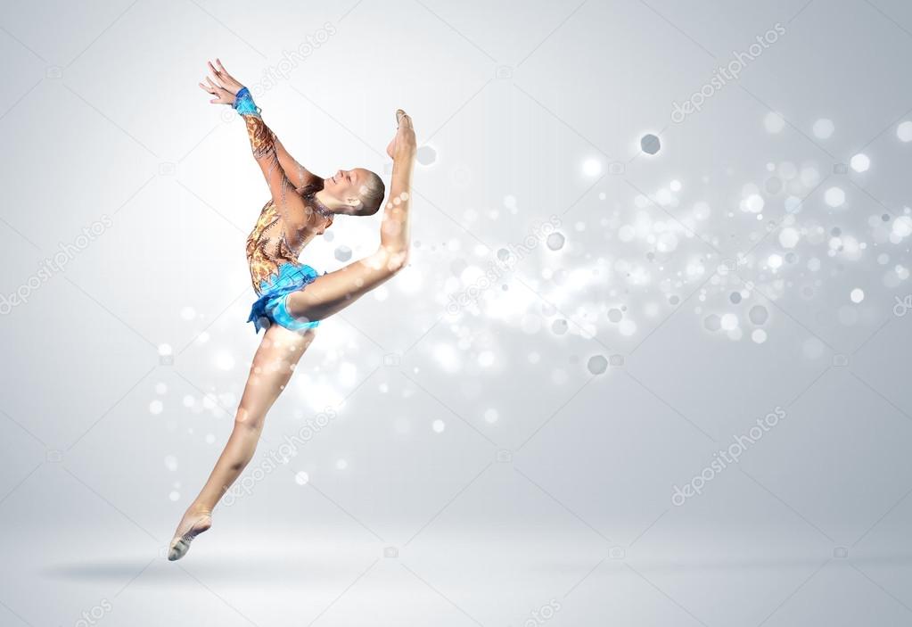
[[[252, 468], [269, 472], [171, 564], [257, 345], [244, 237], [266, 196], [243, 126], [196, 82], [219, 56], [251, 84], [326, 23], [258, 104], [318, 173], [388, 174], [393, 111], [409, 110], [433, 150], [414, 255], [321, 326], [268, 417]], [[669, 120], [777, 23], [737, 82]], [[907, 238], [885, 235], [912, 192], [896, 134], [912, 6], [35, 2], [5, 3], [0, 26], [2, 294], [110, 220], [0, 320], [0, 624], [912, 622], [912, 319], [894, 313], [912, 287]], [[870, 170], [842, 173], [859, 151]], [[819, 172], [793, 183], [791, 218], [767, 187], [782, 162]], [[760, 220], [739, 208], [749, 183]], [[447, 312], [472, 268], [551, 216], [564, 246], [537, 242]], [[817, 236], [773, 271], [789, 220]], [[302, 259], [335, 269], [378, 224], [339, 218]], [[828, 256], [834, 227], [865, 249]], [[621, 307], [635, 329], [608, 318]], [[741, 339], [706, 329], [711, 314], [734, 314]], [[337, 417], [270, 465], [326, 407]], [[785, 419], [739, 464], [671, 504], [775, 407]]]

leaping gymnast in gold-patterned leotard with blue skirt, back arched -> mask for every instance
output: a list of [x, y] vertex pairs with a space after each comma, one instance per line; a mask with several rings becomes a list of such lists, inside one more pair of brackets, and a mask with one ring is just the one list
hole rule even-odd
[[383, 210], [377, 252], [335, 272], [318, 275], [297, 260], [336, 214], [372, 215], [383, 203], [380, 177], [363, 168], [339, 170], [320, 178], [296, 162], [260, 117], [250, 91], [215, 60], [212, 78], [200, 87], [212, 104], [231, 105], [247, 125], [247, 134], [272, 199], [247, 237], [247, 261], [254, 291], [248, 322], [263, 340], [254, 355], [234, 429], [212, 475], [181, 519], [168, 559], [181, 559], [190, 543], [212, 527], [212, 509], [254, 456], [266, 412], [291, 378], [295, 365], [314, 340], [319, 321], [346, 308], [399, 272], [409, 259], [409, 185], [415, 162], [415, 131], [405, 111], [396, 111], [399, 129], [389, 142], [393, 160], [389, 202]]

